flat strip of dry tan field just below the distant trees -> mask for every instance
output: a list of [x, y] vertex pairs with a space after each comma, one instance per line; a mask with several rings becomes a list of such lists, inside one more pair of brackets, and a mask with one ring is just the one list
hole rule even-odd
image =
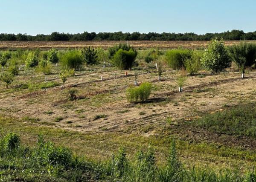
[[[240, 43], [241, 41], [224, 41], [226, 46]], [[255, 40], [248, 40], [247, 42], [256, 42]], [[83, 48], [83, 47], [102, 47], [108, 49], [118, 43], [127, 43], [127, 41], [0, 41], [0, 50], [16, 50], [16, 49], [51, 49], [57, 48]], [[209, 41], [128, 41], [128, 43], [136, 49], [204, 49]]]

